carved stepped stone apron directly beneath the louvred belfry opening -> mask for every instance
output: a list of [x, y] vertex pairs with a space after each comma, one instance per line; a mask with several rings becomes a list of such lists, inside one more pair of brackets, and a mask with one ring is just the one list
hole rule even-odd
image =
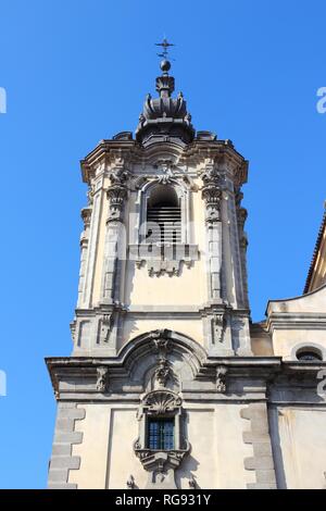
[[199, 259], [198, 245], [152, 244], [129, 245], [129, 258], [138, 269], [147, 264], [150, 276], [179, 275], [181, 263], [190, 267]]

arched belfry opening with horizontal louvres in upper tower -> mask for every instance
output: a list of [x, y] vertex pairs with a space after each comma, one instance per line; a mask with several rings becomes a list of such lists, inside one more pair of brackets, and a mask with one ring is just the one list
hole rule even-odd
[[153, 188], [147, 204], [147, 242], [181, 242], [181, 209], [175, 189], [170, 185]]

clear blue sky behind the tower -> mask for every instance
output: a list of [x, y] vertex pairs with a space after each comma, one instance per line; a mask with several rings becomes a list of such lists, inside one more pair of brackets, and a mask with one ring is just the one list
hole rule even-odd
[[1, 0], [0, 486], [42, 488], [54, 399], [46, 356], [68, 356], [79, 265], [79, 160], [134, 130], [154, 42], [177, 45], [197, 129], [250, 160], [252, 314], [302, 291], [326, 198], [325, 1]]

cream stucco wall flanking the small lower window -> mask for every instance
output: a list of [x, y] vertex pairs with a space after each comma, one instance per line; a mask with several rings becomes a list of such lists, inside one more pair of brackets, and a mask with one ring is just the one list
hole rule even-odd
[[[80, 469], [70, 472], [70, 483], [78, 488], [126, 488], [134, 475], [143, 488], [147, 473], [133, 451], [138, 437], [137, 407], [134, 404], [82, 404], [86, 417], [76, 423], [83, 443], [73, 446], [73, 456], [82, 458]], [[254, 483], [254, 472], [246, 471], [243, 459], [252, 456], [252, 446], [243, 444], [249, 422], [240, 417], [243, 404], [185, 404], [190, 456], [176, 473], [177, 484], [189, 488], [193, 474], [200, 488], [246, 488]]]

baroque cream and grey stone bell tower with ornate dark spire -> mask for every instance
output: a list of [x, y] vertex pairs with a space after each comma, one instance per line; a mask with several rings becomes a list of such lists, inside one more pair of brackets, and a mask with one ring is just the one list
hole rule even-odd
[[196, 133], [170, 67], [135, 138], [120, 133], [82, 161], [73, 353], [47, 359], [51, 488], [276, 487], [267, 387], [284, 344], [277, 304], [250, 324], [248, 162]]

